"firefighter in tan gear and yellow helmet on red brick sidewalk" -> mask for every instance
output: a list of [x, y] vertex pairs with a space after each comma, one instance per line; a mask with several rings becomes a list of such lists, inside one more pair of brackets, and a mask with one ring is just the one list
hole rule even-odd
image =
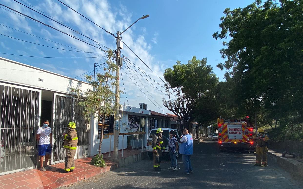
[[77, 145], [78, 145], [78, 137], [77, 137], [77, 131], [75, 130], [76, 128], [76, 123], [74, 122], [69, 122], [68, 125], [68, 132], [63, 133], [64, 137], [64, 148], [66, 151], [66, 156], [65, 156], [65, 167], [64, 170], [62, 171], [63, 173], [68, 173], [72, 172], [75, 169], [75, 154], [77, 150]]

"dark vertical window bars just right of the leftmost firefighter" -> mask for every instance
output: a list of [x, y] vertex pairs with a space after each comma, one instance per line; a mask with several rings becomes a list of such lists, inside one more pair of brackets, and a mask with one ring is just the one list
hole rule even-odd
[[78, 146], [88, 144], [88, 132], [85, 132], [85, 123], [88, 122], [88, 118], [84, 116], [84, 106], [79, 106], [78, 103], [85, 101], [84, 99], [75, 98], [75, 123], [78, 135]]

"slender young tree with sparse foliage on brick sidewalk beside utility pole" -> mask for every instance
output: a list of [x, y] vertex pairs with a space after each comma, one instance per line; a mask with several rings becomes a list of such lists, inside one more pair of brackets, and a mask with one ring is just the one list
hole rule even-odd
[[[78, 105], [84, 106], [84, 115], [89, 119], [93, 116], [94, 119], [102, 118], [102, 126], [101, 126], [101, 138], [99, 143], [99, 154], [98, 157], [101, 157], [101, 146], [103, 141], [103, 126], [106, 117], [111, 115], [116, 115], [116, 108], [120, 107], [120, 104], [115, 103], [116, 94], [112, 92], [112, 88], [117, 86], [116, 76], [113, 75], [118, 69], [116, 66], [115, 55], [112, 50], [107, 51], [107, 67], [103, 69], [103, 74], [97, 73], [96, 80], [94, 81], [93, 76], [86, 75], [87, 83], [89, 83], [93, 89], [87, 89], [85, 91], [86, 99], [85, 101], [79, 102]], [[79, 89], [72, 89], [72, 92], [80, 93]], [[119, 93], [123, 93], [123, 91], [119, 91]]]

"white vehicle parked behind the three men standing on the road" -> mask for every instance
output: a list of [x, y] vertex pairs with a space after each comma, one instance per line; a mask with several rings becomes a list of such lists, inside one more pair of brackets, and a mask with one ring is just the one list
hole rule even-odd
[[[181, 136], [181, 132], [177, 129], [170, 129], [170, 128], [161, 128], [163, 130], [163, 136], [165, 136], [167, 139], [169, 138], [169, 132], [172, 131], [173, 132], [173, 136], [175, 138], [178, 138]], [[152, 129], [150, 132], [149, 132], [149, 135], [148, 135], [148, 140], [147, 140], [147, 146], [145, 147], [147, 153], [148, 153], [148, 156], [153, 159], [153, 154], [152, 154], [152, 147], [151, 147], [151, 142], [152, 142], [152, 136], [154, 134], [156, 134], [157, 132], [157, 129]], [[164, 137], [164, 138], [165, 138]], [[168, 140], [163, 140], [163, 143], [165, 145], [165, 152], [164, 152], [164, 155], [165, 154], [168, 154]], [[169, 155], [168, 155], [169, 156]]]

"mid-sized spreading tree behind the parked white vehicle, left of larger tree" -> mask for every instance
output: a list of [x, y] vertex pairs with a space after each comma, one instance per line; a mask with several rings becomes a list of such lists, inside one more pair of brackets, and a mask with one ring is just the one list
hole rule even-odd
[[[207, 59], [199, 60], [193, 56], [187, 64], [177, 61], [173, 69], [165, 69], [165, 86], [172, 89], [175, 99], [168, 93], [168, 100], [163, 98], [163, 105], [173, 112], [180, 122], [180, 129], [188, 128], [194, 120], [199, 98], [207, 95], [218, 83], [218, 78], [207, 64]], [[183, 124], [182, 124], [183, 121]]]

